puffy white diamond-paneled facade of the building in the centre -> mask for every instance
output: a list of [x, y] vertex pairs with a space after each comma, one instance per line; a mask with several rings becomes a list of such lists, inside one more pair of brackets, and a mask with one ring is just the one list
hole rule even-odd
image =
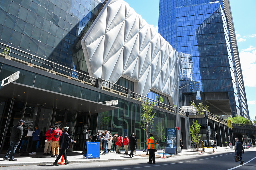
[[135, 83], [146, 96], [152, 89], [176, 104], [180, 56], [123, 0], [109, 0], [82, 40], [90, 76]]

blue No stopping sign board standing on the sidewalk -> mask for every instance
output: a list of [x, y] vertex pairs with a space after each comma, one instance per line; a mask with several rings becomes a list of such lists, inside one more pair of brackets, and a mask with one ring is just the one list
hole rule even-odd
[[86, 142], [84, 157], [88, 158], [100, 158], [100, 142]]

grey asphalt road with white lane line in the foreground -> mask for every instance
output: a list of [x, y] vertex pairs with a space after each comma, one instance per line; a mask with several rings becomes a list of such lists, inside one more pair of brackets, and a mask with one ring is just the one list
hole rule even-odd
[[190, 170], [255, 170], [256, 169], [256, 150], [246, 149], [242, 155], [244, 165], [239, 165], [240, 162], [235, 162], [234, 151], [215, 152], [203, 155], [190, 155], [190, 156], [176, 156], [166, 159], [156, 159], [156, 164], [147, 164], [148, 160], [133, 160], [133, 161], [111, 161], [111, 162], [95, 162], [95, 163], [81, 163], [69, 164], [62, 166], [52, 165], [37, 165], [37, 166], [12, 166], [0, 167], [4, 170], [15, 169], [72, 169], [72, 170], [161, 170], [161, 169], [190, 169]]

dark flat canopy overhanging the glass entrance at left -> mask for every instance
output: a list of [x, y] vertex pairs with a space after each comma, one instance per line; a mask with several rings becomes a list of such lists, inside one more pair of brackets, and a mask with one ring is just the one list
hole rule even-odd
[[18, 101], [51, 107], [61, 107], [81, 112], [101, 113], [119, 108], [16, 82], [9, 83], [0, 88], [0, 96], [6, 99], [15, 98], [15, 100]]

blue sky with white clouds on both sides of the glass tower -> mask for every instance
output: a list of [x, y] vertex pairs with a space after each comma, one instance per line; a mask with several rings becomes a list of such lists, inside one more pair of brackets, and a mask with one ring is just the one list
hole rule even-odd
[[[159, 0], [124, 0], [157, 30]], [[256, 116], [256, 19], [255, 0], [229, 0], [244, 78], [250, 118]], [[254, 19], [253, 19], [254, 18]]]

